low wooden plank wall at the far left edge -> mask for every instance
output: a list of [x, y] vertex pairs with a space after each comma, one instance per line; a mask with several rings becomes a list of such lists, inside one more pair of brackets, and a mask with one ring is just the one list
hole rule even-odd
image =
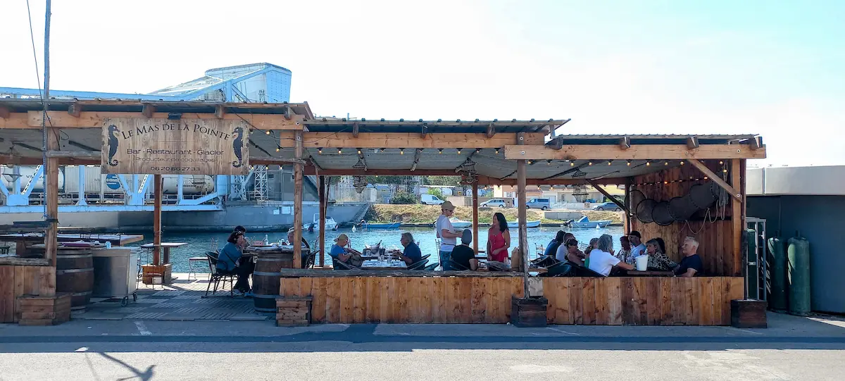
[[0, 265], [0, 323], [14, 323], [20, 319], [18, 297], [55, 295], [55, 279], [54, 267]]

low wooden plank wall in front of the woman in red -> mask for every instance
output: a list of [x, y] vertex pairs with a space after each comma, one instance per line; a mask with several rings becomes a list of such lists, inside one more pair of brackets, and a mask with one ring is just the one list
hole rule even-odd
[[506, 323], [522, 278], [282, 278], [279, 293], [312, 296], [313, 323]]

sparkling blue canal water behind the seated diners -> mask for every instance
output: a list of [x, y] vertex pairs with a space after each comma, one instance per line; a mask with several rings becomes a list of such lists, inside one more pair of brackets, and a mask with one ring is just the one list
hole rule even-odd
[[[480, 237], [480, 241], [478, 242], [478, 248], [483, 249], [487, 246], [487, 227], [481, 227], [478, 229], [478, 234]], [[563, 229], [564, 231], [570, 231], [575, 234], [575, 237], [581, 242], [582, 246], [584, 246], [587, 242], [590, 242], [590, 239], [593, 237], [599, 237], [602, 234], [610, 234], [613, 236], [613, 248], [617, 248], [619, 246], [619, 237], [622, 237], [624, 234], [624, 228], [622, 226], [608, 226], [604, 229], [567, 229], [567, 228], [556, 228], [556, 227], [538, 227], [538, 228], [529, 228], [528, 229], [528, 248], [529, 248], [529, 256], [533, 259], [536, 257], [535, 253], [536, 245], [545, 246], [551, 241], [557, 232]], [[357, 250], [362, 250], [364, 244], [374, 245], [379, 241], [382, 242], [382, 247], [391, 248], [401, 248], [401, 244], [399, 242], [400, 236], [402, 232], [409, 231], [414, 236], [414, 240], [419, 242], [420, 250], [423, 252], [423, 255], [432, 254], [432, 256], [428, 259], [428, 263], [432, 264], [434, 261], [437, 261], [437, 248], [434, 244], [434, 228], [433, 227], [403, 227], [401, 229], [395, 230], [370, 230], [370, 231], [352, 231], [351, 229], [338, 229], [337, 231], [326, 231], [325, 241], [326, 241], [326, 248], [330, 248], [332, 244], [334, 244], [335, 237], [338, 234], [345, 233], [349, 236], [349, 241], [352, 245], [352, 248]], [[132, 243], [128, 246], [139, 246], [144, 243], [152, 242], [152, 232], [151, 231], [142, 231], [136, 233], [128, 233], [128, 234], [143, 234], [144, 241]], [[270, 242], [278, 242], [280, 239], [287, 238], [287, 231], [284, 232], [247, 232], [247, 237], [251, 240], [264, 240], [264, 236], [267, 236]], [[212, 248], [212, 239], [215, 238], [217, 240], [216, 247], [222, 248], [223, 245], [226, 244], [226, 237], [225, 233], [214, 232], [214, 233], [203, 233], [203, 232], [174, 232], [174, 233], [162, 233], [161, 241], [162, 242], [185, 242], [188, 243], [179, 248], [172, 248], [171, 250], [171, 264], [173, 264], [173, 272], [174, 273], [186, 273], [188, 272], [188, 258], [191, 257], [203, 257], [204, 253]], [[308, 240], [312, 244], [319, 239], [319, 235], [317, 233], [308, 233], [307, 231], [303, 231], [303, 237]], [[518, 242], [518, 233], [515, 229], [511, 229], [510, 232], [510, 239], [511, 239], [511, 248], [514, 248]], [[460, 238], [458, 239], [460, 243]], [[470, 245], [472, 246], [472, 245]], [[152, 258], [149, 254], [142, 254], [141, 262], [143, 263], [150, 263]], [[319, 263], [319, 260], [318, 260]], [[325, 263], [331, 264], [331, 259], [328, 256], [328, 251], [326, 251], [325, 255]], [[207, 265], [199, 269], [200, 272], [208, 272]]]

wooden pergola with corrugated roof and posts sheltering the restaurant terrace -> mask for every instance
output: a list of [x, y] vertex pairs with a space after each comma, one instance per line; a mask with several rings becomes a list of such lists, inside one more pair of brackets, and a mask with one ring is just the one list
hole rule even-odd
[[[477, 187], [479, 185], [516, 185], [518, 189], [519, 208], [519, 245], [523, 263], [527, 259], [526, 237], [526, 185], [582, 185], [589, 184], [602, 193], [602, 185], [624, 184], [626, 193], [631, 188], [641, 189], [649, 197], [677, 197], [695, 183], [710, 178], [724, 188], [731, 196], [730, 213], [724, 214], [718, 223], [706, 224], [704, 221], [687, 223], [700, 225], [700, 233], [706, 239], [700, 239], [701, 249], [711, 254], [706, 257], [707, 264], [713, 264], [714, 278], [695, 278], [683, 280], [679, 285], [663, 284], [664, 280], [651, 279], [584, 279], [581, 286], [576, 287], [569, 282], [574, 280], [563, 278], [549, 278], [544, 280], [543, 289], [549, 298], [549, 308], [554, 302], [553, 295], [560, 290], [585, 290], [584, 296], [579, 296], [578, 303], [573, 296], [567, 300], [572, 309], [583, 309], [581, 318], [575, 318], [571, 309], [567, 307], [567, 318], [556, 318], [550, 312], [549, 321], [570, 322], [577, 324], [666, 324], [673, 320], [666, 318], [666, 311], [660, 306], [655, 316], [662, 311], [662, 318], [650, 318], [650, 313], [644, 313], [637, 318], [624, 318], [625, 313], [639, 313], [638, 308], [651, 308], [646, 300], [660, 295], [664, 289], [666, 297], [674, 302], [672, 297], [681, 295], [690, 287], [701, 290], [701, 306], [718, 304], [720, 311], [724, 311], [724, 300], [717, 299], [717, 295], [736, 296], [737, 282], [741, 290], [743, 275], [742, 230], [744, 226], [744, 161], [747, 159], [766, 157], [766, 149], [761, 139], [752, 134], [744, 135], [571, 135], [554, 136], [568, 120], [472, 120], [472, 121], [443, 121], [443, 120], [398, 120], [384, 119], [345, 120], [342, 118], [313, 117], [308, 104], [243, 104], [243, 103], [206, 103], [206, 102], [142, 102], [142, 101], [51, 101], [48, 112], [50, 125], [48, 133], [50, 140], [46, 152], [42, 152], [41, 142], [41, 108], [40, 101], [0, 100], [0, 152], [6, 163], [13, 164], [41, 164], [42, 154], [47, 157], [47, 219], [51, 222], [46, 236], [46, 264], [55, 268], [55, 232], [57, 218], [57, 191], [55, 184], [57, 166], [61, 164], [100, 164], [101, 163], [101, 125], [106, 117], [191, 117], [191, 118], [230, 118], [247, 122], [250, 126], [250, 165], [292, 164], [296, 192], [294, 198], [294, 226], [295, 241], [302, 237], [302, 182], [303, 176], [316, 175], [319, 177], [320, 210], [325, 215], [325, 181], [326, 176], [366, 176], [366, 175], [439, 175], [462, 176], [472, 184], [473, 194], [473, 230], [477, 237]], [[62, 138], [60, 138], [62, 137]], [[721, 172], [721, 173], [720, 173]], [[727, 180], [725, 180], [727, 179]], [[161, 242], [161, 177], [156, 176], [155, 208], [155, 240]], [[684, 224], [674, 223], [670, 226], [643, 224], [632, 216], [630, 199], [624, 200], [609, 197], [625, 210], [626, 230], [637, 229], [646, 237], [666, 237], [668, 248], [682, 239]], [[730, 218], [728, 220], [728, 217]], [[321, 225], [324, 220], [321, 220]], [[320, 226], [320, 242], [324, 240], [324, 226]], [[476, 241], [477, 242], [477, 241]], [[51, 248], [52, 245], [52, 248]], [[477, 245], [477, 243], [476, 243]], [[322, 246], [322, 244], [321, 244]], [[297, 253], [293, 255], [294, 268], [299, 267], [300, 248], [294, 245]], [[322, 248], [321, 248], [322, 249]], [[322, 254], [322, 253], [321, 253]], [[675, 254], [677, 255], [677, 254]], [[322, 261], [323, 255], [320, 255]], [[344, 305], [354, 311], [346, 317], [344, 313], [333, 315], [332, 297], [325, 293], [325, 285], [330, 282], [351, 282], [354, 287], [363, 287], [363, 294], [369, 297], [370, 287], [381, 285], [379, 279], [374, 286], [361, 284], [363, 280], [351, 279], [349, 274], [322, 270], [283, 271], [281, 296], [296, 296], [308, 294], [314, 297], [315, 308], [323, 308], [322, 313], [314, 313], [317, 321], [325, 322], [357, 322], [357, 321], [415, 321], [412, 313], [400, 311], [398, 315], [389, 314], [376, 316], [376, 312], [367, 308], [367, 299], [363, 308], [358, 311], [352, 306]], [[363, 275], [363, 273], [361, 274]], [[408, 272], [390, 280], [402, 290], [406, 285], [402, 282], [425, 279], [423, 283], [431, 286], [444, 287], [455, 282], [463, 285], [469, 281], [469, 289], [475, 292], [483, 287], [490, 288], [487, 282], [502, 286], [501, 295], [526, 297], [529, 295], [527, 269], [519, 275], [470, 275], [458, 272], [439, 272], [434, 278], [432, 274]], [[376, 278], [379, 276], [373, 275]], [[391, 275], [396, 276], [396, 275]], [[475, 276], [475, 278], [472, 278]], [[55, 275], [53, 275], [53, 278]], [[341, 277], [341, 278], [338, 278]], [[347, 279], [349, 278], [349, 279]], [[452, 279], [452, 280], [449, 280]], [[395, 284], [392, 282], [400, 282]], [[560, 286], [561, 282], [567, 286]], [[580, 281], [580, 280], [579, 280]], [[643, 285], [638, 286], [640, 282]], [[674, 280], [673, 280], [674, 281]], [[679, 280], [680, 281], [680, 280]], [[426, 283], [428, 282], [428, 283]], [[443, 283], [447, 282], [447, 283]], [[481, 283], [482, 282], [483, 285]], [[504, 283], [503, 283], [504, 282]], [[620, 283], [621, 282], [621, 283]], [[456, 285], [458, 283], [455, 283]], [[478, 284], [477, 284], [478, 283]], [[346, 284], [346, 283], [344, 283]], [[625, 286], [625, 285], [629, 285]], [[318, 286], [314, 286], [318, 285]], [[322, 285], [320, 288], [319, 285]], [[506, 285], [506, 286], [503, 286]], [[615, 285], [615, 286], [614, 286]], [[620, 286], [621, 285], [621, 286]], [[424, 286], [424, 285], [423, 285]], [[466, 285], [465, 285], [466, 286]], [[676, 288], [676, 286], [678, 288]], [[729, 290], [717, 291], [715, 287], [724, 286]], [[346, 286], [344, 286], [346, 287]], [[354, 288], [353, 287], [353, 288]], [[455, 286], [458, 287], [458, 286]], [[609, 288], [608, 288], [609, 287]], [[614, 288], [615, 287], [615, 288]], [[620, 287], [622, 291], [620, 290]], [[628, 288], [625, 288], [628, 287]], [[662, 288], [661, 288], [662, 287]], [[643, 296], [639, 307], [625, 302], [625, 290], [633, 290], [635, 294]], [[44, 291], [49, 291], [47, 286]], [[651, 292], [655, 291], [657, 294]], [[683, 290], [682, 290], [683, 289]], [[347, 288], [343, 288], [347, 290]], [[352, 290], [352, 289], [348, 289]], [[354, 288], [356, 291], [360, 291]], [[599, 290], [602, 298], [598, 297]], [[613, 291], [616, 290], [616, 291]], [[646, 292], [646, 290], [648, 292]], [[55, 292], [55, 282], [52, 291]], [[322, 293], [321, 293], [322, 292]], [[570, 292], [570, 291], [565, 291]], [[640, 294], [641, 292], [641, 294]], [[728, 292], [725, 294], [725, 292]], [[356, 292], [356, 295], [358, 293]], [[458, 300], [466, 295], [461, 292], [446, 292]], [[591, 297], [587, 297], [589, 294]], [[646, 296], [647, 294], [647, 296]], [[740, 292], [741, 294], [741, 292]], [[497, 294], [499, 295], [499, 294]], [[551, 297], [549, 297], [551, 295]], [[558, 294], [562, 295], [562, 294]], [[579, 294], [581, 295], [581, 294]], [[322, 299], [319, 299], [320, 296]], [[609, 296], [609, 297], [608, 297]], [[615, 297], [613, 297], [615, 296]], [[622, 297], [620, 297], [622, 296]], [[352, 293], [349, 294], [352, 300]], [[422, 297], [422, 296], [420, 296]], [[471, 296], [474, 297], [474, 294]], [[662, 300], [665, 300], [663, 297]], [[739, 295], [743, 297], [743, 295]], [[482, 299], [485, 297], [482, 296]], [[658, 297], [659, 298], [659, 297]], [[318, 300], [319, 299], [319, 300]], [[609, 308], [619, 310], [619, 318], [599, 318], [602, 312], [588, 312], [597, 308], [597, 301], [609, 301]], [[705, 300], [706, 299], [706, 300]], [[340, 299], [338, 299], [340, 300]], [[486, 299], [490, 303], [501, 304], [501, 297]], [[588, 300], [590, 302], [588, 302]], [[355, 300], [355, 304], [360, 301]], [[507, 301], [510, 302], [510, 299]], [[582, 304], [583, 302], [583, 304]], [[346, 302], [343, 302], [346, 303]], [[409, 305], [417, 305], [417, 298], [408, 299]], [[423, 304], [425, 304], [423, 302]], [[423, 305], [420, 304], [420, 305]], [[678, 301], [684, 305], [684, 299]], [[689, 304], [689, 303], [687, 303]], [[374, 306], [374, 304], [373, 304]], [[587, 307], [585, 307], [587, 306]], [[591, 307], [589, 307], [591, 306]], [[672, 309], [670, 303], [668, 308]], [[506, 319], [504, 308], [498, 307], [482, 313], [478, 317], [473, 313], [464, 316], [455, 313], [452, 318], [447, 315], [434, 317], [434, 311], [440, 311], [436, 306], [429, 305], [423, 316], [425, 321], [443, 322], [499, 322]], [[560, 307], [560, 306], [558, 306]], [[555, 308], [558, 308], [555, 307]], [[666, 306], [662, 306], [666, 307]], [[476, 303], [467, 306], [469, 312], [476, 311]], [[616, 309], [613, 309], [616, 308]], [[472, 310], [472, 311], [471, 311]], [[346, 310], [343, 310], [346, 311]], [[461, 308], [461, 312], [464, 309]], [[496, 311], [495, 313], [491, 311]], [[556, 311], [556, 309], [553, 309]], [[608, 309], [604, 310], [607, 313]], [[360, 313], [360, 316], [358, 315]], [[384, 313], [384, 311], [382, 311]], [[716, 315], [711, 310], [711, 318], [694, 319], [684, 315], [676, 318], [675, 323], [688, 324], [724, 324], [724, 314]], [[461, 315], [459, 318], [458, 315]], [[563, 314], [561, 316], [564, 316]], [[583, 318], [593, 318], [584, 323]], [[642, 318], [645, 316], [646, 318]], [[691, 315], [690, 315], [691, 316]]]

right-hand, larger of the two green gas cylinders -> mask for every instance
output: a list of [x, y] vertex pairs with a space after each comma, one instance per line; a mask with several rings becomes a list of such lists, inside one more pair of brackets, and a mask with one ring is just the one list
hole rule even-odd
[[789, 238], [787, 248], [789, 313], [807, 316], [810, 313], [810, 242], [797, 236]]

